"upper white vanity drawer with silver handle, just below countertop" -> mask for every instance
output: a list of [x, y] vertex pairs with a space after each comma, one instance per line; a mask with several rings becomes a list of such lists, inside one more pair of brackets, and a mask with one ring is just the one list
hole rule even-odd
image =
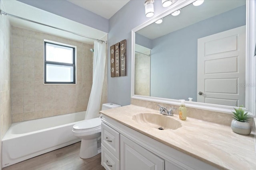
[[120, 134], [105, 123], [101, 124], [101, 143], [119, 159]]

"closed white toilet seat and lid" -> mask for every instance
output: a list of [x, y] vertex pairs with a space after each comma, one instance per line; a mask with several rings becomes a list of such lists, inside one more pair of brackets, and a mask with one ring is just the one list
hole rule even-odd
[[94, 119], [88, 119], [84, 120], [80, 123], [77, 123], [73, 126], [73, 131], [90, 131], [93, 129], [98, 129], [101, 127], [101, 119], [100, 118], [94, 118]]

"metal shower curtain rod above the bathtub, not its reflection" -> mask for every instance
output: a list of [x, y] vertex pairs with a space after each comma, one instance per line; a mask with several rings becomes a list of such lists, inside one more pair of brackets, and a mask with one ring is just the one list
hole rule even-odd
[[65, 30], [65, 29], [61, 29], [61, 28], [54, 27], [54, 26], [51, 26], [51, 25], [47, 25], [47, 24], [44, 24], [44, 23], [40, 23], [40, 22], [37, 22], [37, 21], [28, 20], [28, 19], [26, 19], [26, 18], [22, 18], [22, 17], [19, 17], [19, 16], [15, 16], [15, 15], [12, 15], [12, 14], [8, 14], [8, 13], [2, 11], [2, 10], [0, 10], [0, 13], [1, 13], [1, 15], [4, 15], [4, 16], [11, 16], [11, 17], [18, 18], [18, 19], [21, 19], [21, 20], [30, 21], [30, 22], [33, 22], [33, 23], [37, 23], [37, 24], [44, 25], [44, 26], [47, 26], [47, 27], [55, 28], [55, 29], [58, 29], [58, 30], [61, 30], [61, 31], [65, 31], [65, 32], [68, 32], [68, 33], [72, 33], [72, 34], [74, 34], [74, 35], [79, 35], [79, 36], [81, 36], [81, 37], [85, 37], [85, 38], [89, 38], [89, 39], [94, 39], [94, 40], [100, 41], [100, 42], [102, 42], [102, 43], [107, 43], [107, 41], [103, 41], [103, 40], [100, 40], [100, 39], [95, 39], [95, 38], [92, 38], [92, 37], [87, 37], [87, 36], [85, 36], [85, 35], [78, 34], [78, 33], [74, 33], [74, 32], [72, 32], [72, 31], [68, 31], [68, 30]]

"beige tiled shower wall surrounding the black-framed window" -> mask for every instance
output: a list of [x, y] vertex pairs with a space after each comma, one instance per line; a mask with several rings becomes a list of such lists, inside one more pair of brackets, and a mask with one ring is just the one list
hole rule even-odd
[[[76, 84], [44, 84], [44, 39], [76, 46]], [[93, 45], [12, 26], [12, 122], [85, 111]]]

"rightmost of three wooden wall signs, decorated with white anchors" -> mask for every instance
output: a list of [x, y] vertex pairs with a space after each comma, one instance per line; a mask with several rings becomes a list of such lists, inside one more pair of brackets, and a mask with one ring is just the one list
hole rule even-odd
[[126, 39], [120, 41], [120, 76], [126, 76]]

